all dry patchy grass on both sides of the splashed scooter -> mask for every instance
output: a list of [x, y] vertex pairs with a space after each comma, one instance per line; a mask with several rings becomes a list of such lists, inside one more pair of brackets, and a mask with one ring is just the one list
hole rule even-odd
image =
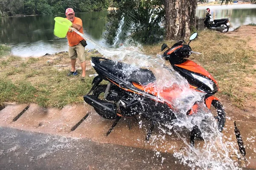
[[[256, 93], [248, 91], [254, 83], [245, 79], [250, 75], [255, 79], [256, 52], [246, 45], [249, 39], [227, 37], [214, 31], [199, 32], [195, 41], [190, 43], [193, 54], [190, 59], [203, 66], [218, 82], [220, 92], [217, 97], [227, 99], [239, 108], [246, 100], [256, 100]], [[160, 51], [163, 42], [156, 45], [145, 45], [146, 54], [163, 54]], [[174, 41], [164, 41], [171, 46]], [[100, 57], [97, 51], [86, 52], [87, 68], [90, 58]], [[85, 82], [80, 76], [67, 77], [70, 59], [67, 53], [58, 54], [55, 59], [20, 58], [9, 56], [0, 58], [0, 104], [2, 102], [37, 103], [44, 107], [62, 108], [67, 104], [82, 103], [83, 95], [91, 88], [93, 77], [86, 77]], [[51, 60], [51, 62], [47, 62]], [[68, 65], [66, 68], [56, 65]], [[77, 67], [79, 62], [77, 62]], [[79, 70], [81, 73], [81, 70]], [[94, 74], [93, 69], [87, 75]]]

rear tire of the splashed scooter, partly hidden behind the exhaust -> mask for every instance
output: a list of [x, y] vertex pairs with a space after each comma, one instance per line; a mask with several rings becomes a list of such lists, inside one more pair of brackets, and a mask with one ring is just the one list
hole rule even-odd
[[[95, 96], [97, 99], [101, 99], [101, 94], [105, 93], [105, 90], [107, 88], [107, 85], [98, 85], [96, 89], [93, 91], [93, 96]], [[93, 107], [94, 108], [94, 107]], [[119, 116], [117, 115], [110, 115], [110, 114], [105, 114], [104, 112], [100, 111], [97, 108], [94, 108], [96, 113], [98, 113], [100, 116], [102, 116], [105, 119], [117, 119]]]

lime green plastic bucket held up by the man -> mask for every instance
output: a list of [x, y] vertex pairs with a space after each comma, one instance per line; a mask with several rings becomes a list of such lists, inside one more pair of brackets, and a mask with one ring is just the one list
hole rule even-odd
[[67, 35], [67, 31], [72, 26], [70, 20], [62, 17], [55, 17], [55, 25], [54, 25], [54, 32], [53, 34], [60, 38], [65, 38]]

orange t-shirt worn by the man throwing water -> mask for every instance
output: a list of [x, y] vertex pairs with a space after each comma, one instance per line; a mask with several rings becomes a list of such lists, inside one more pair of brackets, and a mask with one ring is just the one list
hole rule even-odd
[[[67, 19], [67, 18], [66, 18]], [[82, 20], [78, 17], [74, 18], [73, 21], [74, 24], [78, 24], [80, 26], [82, 26], [82, 28], [79, 30], [79, 32], [81, 32], [82, 34], [84, 34], [83, 32], [83, 23]], [[78, 45], [80, 43], [81, 40], [83, 40], [84, 38], [81, 37], [79, 34], [77, 34], [75, 31], [73, 30], [68, 30], [67, 32], [67, 41], [68, 41], [68, 45], [70, 47], [73, 47], [75, 45]]]

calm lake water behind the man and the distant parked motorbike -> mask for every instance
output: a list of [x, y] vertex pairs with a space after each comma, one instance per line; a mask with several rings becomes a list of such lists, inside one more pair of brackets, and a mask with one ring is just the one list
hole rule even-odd
[[[203, 18], [209, 7], [214, 19], [230, 18], [231, 29], [256, 23], [256, 4], [234, 4], [228, 6], [199, 6], [197, 16]], [[105, 46], [102, 40], [108, 11], [79, 13], [76, 17], [83, 21], [84, 33]], [[0, 18], [0, 44], [12, 46], [12, 54], [22, 57], [42, 56], [67, 51], [66, 38], [53, 35], [54, 18], [65, 17], [64, 14], [27, 17]], [[94, 48], [87, 42], [87, 49]]]

